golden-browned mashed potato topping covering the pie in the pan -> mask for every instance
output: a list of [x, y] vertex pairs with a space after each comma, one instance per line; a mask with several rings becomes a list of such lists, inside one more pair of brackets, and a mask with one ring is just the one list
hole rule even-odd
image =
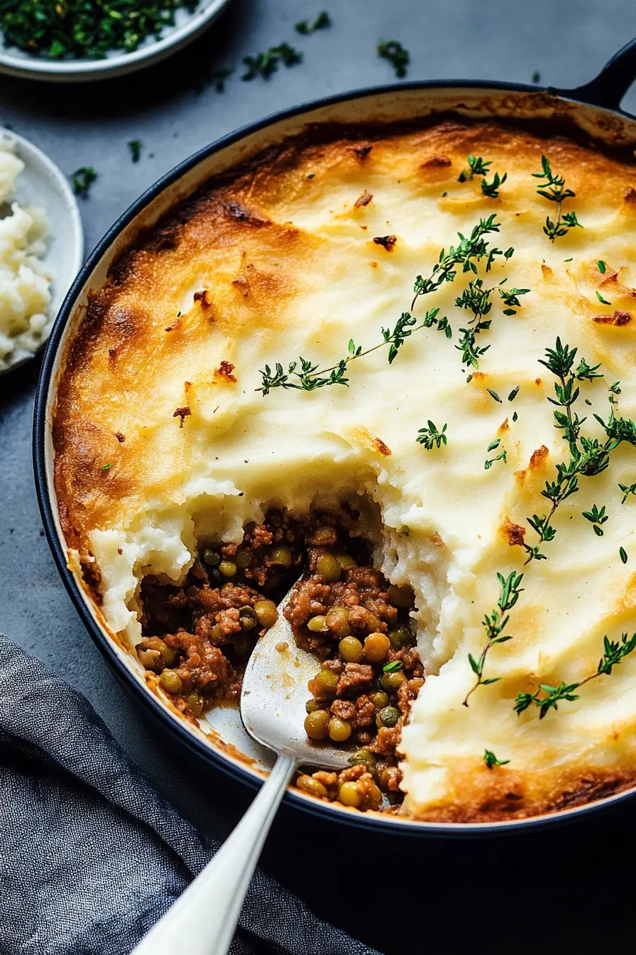
[[[365, 136], [368, 134], [365, 134]], [[460, 181], [469, 154], [507, 178], [499, 197]], [[532, 178], [542, 156], [576, 193], [583, 227], [550, 242], [556, 203]], [[471, 279], [423, 295], [439, 308], [395, 360], [383, 346], [350, 362], [348, 387], [263, 395], [259, 370], [298, 356], [320, 369], [382, 341], [411, 309], [416, 276], [494, 214], [498, 255], [478, 368], [458, 345]], [[581, 476], [524, 565], [546, 515], [542, 491], [569, 460], [541, 363], [557, 337], [603, 377], [582, 380], [581, 435], [603, 442], [610, 401], [636, 417], [636, 169], [565, 138], [496, 123], [447, 122], [371, 138], [294, 141], [212, 183], [120, 261], [67, 354], [54, 441], [56, 486], [72, 551], [113, 631], [140, 637], [139, 581], [179, 581], [198, 540], [240, 541], [268, 505], [301, 513], [357, 501], [376, 562], [417, 595], [427, 678], [403, 732], [403, 788], [415, 817], [531, 815], [624, 788], [636, 775], [636, 652], [540, 718], [520, 693], [596, 672], [605, 635], [636, 630], [636, 448]], [[380, 240], [380, 242], [378, 241]], [[505, 285], [500, 283], [505, 281]], [[499, 289], [528, 289], [513, 314]], [[470, 377], [472, 373], [472, 377]], [[291, 379], [295, 380], [295, 379]], [[610, 386], [620, 386], [610, 391]], [[556, 409], [559, 411], [559, 409]], [[563, 411], [563, 409], [561, 410]], [[447, 442], [418, 443], [446, 425]], [[498, 443], [497, 443], [498, 442]], [[501, 456], [505, 452], [505, 457]], [[497, 458], [497, 459], [494, 459]], [[486, 466], [486, 461], [492, 461]], [[625, 502], [623, 502], [626, 497]], [[584, 517], [605, 506], [607, 520]], [[623, 556], [621, 556], [623, 555]], [[498, 574], [522, 574], [505, 635], [475, 683]], [[490, 768], [484, 751], [505, 765]]]

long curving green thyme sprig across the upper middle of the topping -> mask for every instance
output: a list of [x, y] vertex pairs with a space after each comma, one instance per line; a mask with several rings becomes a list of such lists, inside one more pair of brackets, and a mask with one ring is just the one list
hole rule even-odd
[[[428, 295], [439, 288], [444, 282], [453, 282], [458, 269], [462, 266], [463, 272], [472, 271], [477, 273], [477, 262], [485, 260], [486, 272], [490, 270], [497, 256], [503, 255], [509, 259], [513, 250], [508, 249], [502, 252], [498, 248], [491, 248], [485, 241], [484, 236], [491, 232], [499, 232], [500, 225], [495, 222], [494, 215], [487, 219], [482, 219], [472, 230], [469, 237], [458, 233], [460, 244], [457, 247], [451, 245], [448, 252], [441, 249], [438, 262], [433, 265], [430, 275], [425, 278], [421, 275], [415, 280], [413, 286], [414, 296], [409, 311], [401, 313], [394, 329], [381, 329], [382, 341], [373, 345], [369, 349], [362, 349], [356, 345], [353, 339], [350, 339], [347, 355], [340, 358], [338, 362], [329, 368], [319, 369], [318, 364], [312, 363], [309, 359], [299, 357], [288, 365], [287, 371], [284, 371], [281, 362], [275, 365], [273, 372], [269, 365], [259, 370], [262, 378], [261, 387], [256, 391], [263, 395], [269, 394], [276, 388], [297, 389], [303, 392], [313, 392], [318, 388], [324, 388], [329, 385], [348, 386], [349, 379], [345, 376], [345, 371], [350, 362], [355, 361], [372, 351], [389, 346], [388, 362], [393, 363], [404, 341], [410, 337], [414, 331], [420, 329], [430, 329], [437, 325], [438, 330], [443, 331], [447, 338], [452, 337], [452, 329], [445, 317], [438, 318], [440, 309], [433, 308], [427, 311], [418, 325], [417, 319], [411, 314], [421, 295]], [[298, 371], [299, 369], [299, 371]]]

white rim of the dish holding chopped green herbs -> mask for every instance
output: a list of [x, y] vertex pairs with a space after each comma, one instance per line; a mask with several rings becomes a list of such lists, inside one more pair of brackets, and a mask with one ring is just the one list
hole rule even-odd
[[[113, 50], [102, 59], [51, 60], [23, 53], [17, 47], [0, 47], [0, 73], [49, 82], [82, 83], [133, 73], [176, 53], [210, 26], [230, 0], [199, 0], [194, 13], [178, 10], [174, 27], [166, 27], [161, 39], [150, 36], [133, 51]], [[0, 39], [2, 32], [0, 31]]]

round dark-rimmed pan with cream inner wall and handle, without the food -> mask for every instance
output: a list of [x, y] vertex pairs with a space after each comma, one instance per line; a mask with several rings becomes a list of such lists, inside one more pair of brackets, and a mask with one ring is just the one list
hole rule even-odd
[[[621, 110], [621, 101], [635, 78], [636, 39], [616, 53], [598, 76], [575, 90], [541, 89], [517, 83], [422, 81], [358, 90], [303, 104], [261, 119], [230, 136], [218, 139], [180, 163], [134, 202], [93, 250], [57, 316], [42, 364], [35, 401], [33, 434], [33, 461], [40, 511], [62, 580], [97, 647], [145, 710], [164, 730], [172, 734], [179, 747], [196, 760], [220, 769], [252, 788], [259, 784], [258, 775], [195, 736], [135, 678], [132, 670], [126, 666], [122, 654], [116, 651], [107, 631], [98, 623], [83, 588], [67, 566], [66, 546], [57, 520], [51, 479], [51, 408], [57, 366], [65, 336], [69, 327], [76, 325], [81, 319], [83, 295], [91, 286], [99, 286], [103, 282], [109, 261], [133, 240], [140, 225], [153, 223], [175, 202], [194, 191], [199, 182], [208, 179], [211, 171], [230, 168], [236, 161], [246, 159], [264, 146], [276, 142], [277, 138], [293, 135], [295, 130], [302, 128], [304, 122], [342, 121], [342, 117], [349, 117], [350, 122], [364, 118], [367, 121], [383, 122], [390, 118], [403, 119], [407, 114], [411, 117], [421, 116], [431, 105], [435, 111], [441, 112], [444, 104], [446, 110], [464, 111], [465, 115], [466, 109], [474, 109], [477, 108], [475, 104], [485, 103], [488, 105], [479, 108], [486, 110], [484, 116], [490, 117], [536, 119], [544, 117], [546, 110], [548, 113], [553, 110], [556, 113], [556, 119], [553, 117], [551, 120], [553, 127], [555, 121], [563, 120], [564, 132], [569, 132], [569, 128], [565, 127], [574, 124], [582, 127], [585, 134], [591, 135], [592, 138], [605, 139], [614, 145], [629, 145], [633, 149], [636, 146], [636, 119]], [[488, 113], [488, 110], [491, 112]], [[295, 804], [297, 808], [317, 814], [323, 820], [344, 821], [367, 831], [372, 829], [389, 835], [402, 833], [429, 837], [492, 836], [510, 833], [511, 830], [519, 831], [522, 828], [552, 827], [568, 819], [598, 814], [619, 802], [625, 803], [634, 798], [636, 790], [631, 790], [543, 817], [497, 823], [453, 824], [417, 822], [397, 817], [381, 817], [372, 813], [342, 811], [331, 804], [318, 803], [317, 800], [293, 790], [286, 796], [287, 801]]]

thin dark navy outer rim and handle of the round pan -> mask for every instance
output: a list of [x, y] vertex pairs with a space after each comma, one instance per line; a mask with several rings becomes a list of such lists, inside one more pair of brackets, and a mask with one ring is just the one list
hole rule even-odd
[[[605, 65], [601, 73], [585, 86], [575, 90], [557, 90], [550, 87], [530, 86], [524, 83], [503, 83], [494, 81], [480, 80], [422, 80], [408, 83], [396, 83], [383, 86], [369, 87], [366, 89], [355, 90], [351, 93], [338, 94], [336, 96], [326, 96], [318, 100], [302, 103], [292, 109], [283, 110], [272, 114], [254, 123], [241, 127], [228, 136], [216, 139], [215, 142], [204, 146], [188, 159], [184, 159], [161, 179], [157, 180], [153, 186], [146, 190], [136, 202], [124, 212], [122, 216], [111, 226], [103, 239], [92, 250], [91, 255], [83, 265], [79, 274], [66, 296], [62, 308], [55, 319], [51, 334], [47, 342], [46, 351], [40, 371], [37, 393], [35, 396], [34, 422], [33, 422], [33, 466], [35, 472], [35, 486], [40, 506], [42, 521], [47, 534], [49, 545], [53, 558], [57, 564], [60, 576], [69, 592], [72, 603], [75, 605], [85, 626], [89, 630], [93, 641], [106, 657], [107, 661], [123, 682], [126, 689], [151, 712], [163, 727], [169, 730], [171, 735], [175, 736], [187, 749], [197, 757], [203, 759], [207, 764], [211, 764], [215, 769], [221, 770], [226, 775], [235, 780], [246, 783], [252, 789], [256, 789], [259, 780], [246, 768], [237, 765], [228, 759], [225, 759], [212, 746], [199, 739], [187, 727], [168, 711], [159, 700], [149, 693], [145, 687], [140, 684], [133, 676], [133, 673], [124, 665], [116, 655], [112, 643], [106, 636], [100, 626], [92, 617], [88, 606], [82, 596], [80, 588], [76, 583], [72, 571], [67, 566], [67, 555], [58, 537], [53, 518], [53, 509], [51, 506], [52, 488], [49, 487], [46, 472], [46, 436], [47, 420], [46, 410], [48, 395], [51, 387], [51, 375], [55, 363], [58, 347], [60, 345], [67, 322], [69, 321], [75, 305], [78, 294], [84, 287], [87, 279], [92, 273], [93, 268], [100, 261], [102, 256], [108, 251], [117, 236], [133, 222], [133, 219], [168, 186], [179, 180], [185, 173], [193, 169], [203, 159], [233, 145], [239, 139], [257, 133], [274, 123], [301, 116], [303, 113], [311, 113], [325, 106], [332, 106], [338, 103], [359, 99], [365, 96], [379, 96], [392, 93], [403, 93], [404, 91], [435, 91], [442, 89], [458, 90], [493, 90], [501, 93], [548, 93], [554, 96], [560, 96], [576, 104], [583, 106], [597, 107], [603, 112], [618, 115], [630, 119], [628, 114], [620, 110], [620, 103], [625, 96], [626, 91], [636, 78], [636, 39], [631, 40], [626, 46], [616, 53], [614, 57]], [[520, 829], [533, 829], [537, 826], [559, 825], [571, 821], [583, 815], [602, 810], [608, 811], [618, 802], [624, 802], [636, 796], [636, 789], [626, 790], [616, 793], [613, 796], [601, 797], [595, 801], [585, 803], [581, 806], [574, 806], [570, 809], [556, 810], [543, 816], [532, 816], [523, 819], [510, 819], [501, 822], [427, 822], [416, 819], [400, 817], [382, 817], [376, 813], [343, 812], [341, 808], [332, 806], [331, 803], [318, 802], [317, 799], [303, 796], [293, 789], [289, 789], [285, 795], [285, 801], [288, 805], [294, 805], [300, 810], [322, 819], [331, 818], [344, 824], [351, 824], [363, 829], [374, 829], [390, 835], [400, 833], [409, 836], [426, 836], [438, 838], [462, 838], [474, 836], [503, 836], [518, 833]]]

